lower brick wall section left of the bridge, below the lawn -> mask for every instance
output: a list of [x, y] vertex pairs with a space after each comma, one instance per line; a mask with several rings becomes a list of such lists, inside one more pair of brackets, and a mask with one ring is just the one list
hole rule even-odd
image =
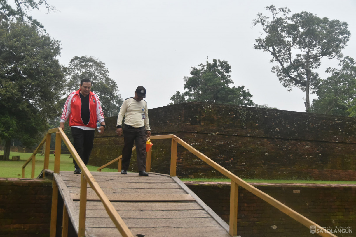
[[52, 181], [0, 178], [0, 236], [49, 236]]

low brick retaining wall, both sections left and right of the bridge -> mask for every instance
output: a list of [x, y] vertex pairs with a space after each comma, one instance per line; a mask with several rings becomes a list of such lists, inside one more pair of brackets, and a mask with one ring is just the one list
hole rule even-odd
[[[229, 183], [184, 183], [229, 222]], [[350, 226], [355, 231], [356, 185], [253, 185], [321, 226]], [[51, 203], [52, 182], [47, 179], [0, 178], [0, 237], [49, 236]], [[242, 188], [237, 222], [242, 237], [312, 236], [307, 227]]]

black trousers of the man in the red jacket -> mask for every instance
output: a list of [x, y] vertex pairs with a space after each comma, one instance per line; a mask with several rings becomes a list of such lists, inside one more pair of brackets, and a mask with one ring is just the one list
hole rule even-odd
[[[72, 137], [73, 137], [73, 146], [78, 152], [78, 155], [82, 159], [85, 165], [89, 162], [89, 156], [91, 150], [93, 149], [94, 141], [94, 131], [95, 130], [83, 130], [80, 128], [71, 127]], [[79, 169], [77, 162], [73, 160], [74, 168]]]

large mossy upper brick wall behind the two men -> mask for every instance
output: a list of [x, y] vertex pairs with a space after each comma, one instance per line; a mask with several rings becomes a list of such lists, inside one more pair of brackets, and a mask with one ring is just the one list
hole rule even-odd
[[[241, 178], [356, 180], [355, 118], [199, 102], [150, 109], [149, 118], [152, 135], [177, 135]], [[121, 155], [116, 117], [106, 124], [89, 165]], [[151, 171], [168, 173], [171, 142], [153, 143]], [[137, 171], [135, 152], [131, 163]], [[177, 175], [221, 177], [180, 145]]]

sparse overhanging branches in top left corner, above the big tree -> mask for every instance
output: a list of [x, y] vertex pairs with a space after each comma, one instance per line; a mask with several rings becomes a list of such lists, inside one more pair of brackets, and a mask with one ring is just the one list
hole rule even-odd
[[43, 28], [40, 22], [27, 15], [28, 10], [39, 10], [40, 6], [45, 6], [48, 11], [56, 11], [46, 0], [0, 0], [0, 23], [2, 21], [18, 21]]

